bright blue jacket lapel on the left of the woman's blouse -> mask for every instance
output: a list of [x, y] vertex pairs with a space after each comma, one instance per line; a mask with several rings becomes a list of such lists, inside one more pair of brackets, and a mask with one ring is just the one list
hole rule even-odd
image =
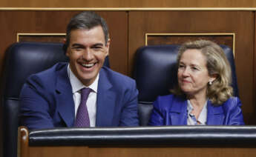
[[177, 96], [174, 97], [170, 109], [171, 125], [187, 124], [187, 104], [186, 99]]

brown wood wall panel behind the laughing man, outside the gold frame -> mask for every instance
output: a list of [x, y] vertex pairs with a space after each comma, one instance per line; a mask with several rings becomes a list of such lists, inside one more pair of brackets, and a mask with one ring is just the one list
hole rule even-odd
[[[70, 18], [78, 11], [0, 11], [0, 67], [4, 51], [16, 42], [17, 33], [65, 33]], [[111, 69], [127, 74], [128, 13], [99, 11], [108, 23], [111, 37]]]

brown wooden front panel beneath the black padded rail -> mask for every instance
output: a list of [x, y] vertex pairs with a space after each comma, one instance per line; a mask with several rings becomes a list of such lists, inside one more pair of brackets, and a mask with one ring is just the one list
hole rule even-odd
[[[29, 147], [29, 156], [33, 157], [251, 157], [255, 156], [255, 148], [231, 147]], [[23, 156], [22, 156], [23, 157]]]

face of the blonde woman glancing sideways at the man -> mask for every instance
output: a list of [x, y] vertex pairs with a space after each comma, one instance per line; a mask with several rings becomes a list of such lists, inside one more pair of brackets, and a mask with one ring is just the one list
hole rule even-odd
[[188, 49], [182, 54], [177, 77], [180, 89], [186, 95], [206, 95], [208, 82], [212, 80], [206, 67], [206, 57], [200, 50]]

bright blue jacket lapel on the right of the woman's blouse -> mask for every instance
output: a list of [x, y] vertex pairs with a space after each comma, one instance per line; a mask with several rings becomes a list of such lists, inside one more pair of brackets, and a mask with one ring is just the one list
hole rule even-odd
[[207, 124], [208, 125], [222, 125], [224, 121], [223, 107], [214, 106], [211, 101], [207, 104]]

